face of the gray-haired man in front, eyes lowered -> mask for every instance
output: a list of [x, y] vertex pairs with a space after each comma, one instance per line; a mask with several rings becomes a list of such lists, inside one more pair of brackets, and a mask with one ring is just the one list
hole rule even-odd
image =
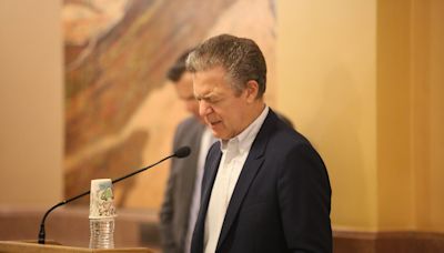
[[251, 94], [245, 89], [236, 95], [222, 68], [194, 73], [193, 83], [199, 113], [214, 136], [230, 140], [250, 124]]

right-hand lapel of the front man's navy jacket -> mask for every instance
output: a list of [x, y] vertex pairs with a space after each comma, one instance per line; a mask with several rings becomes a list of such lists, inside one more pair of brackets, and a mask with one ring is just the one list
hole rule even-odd
[[226, 209], [226, 214], [223, 221], [221, 235], [219, 236], [216, 251], [222, 245], [223, 241], [229, 234], [230, 227], [238, 215], [243, 199], [245, 198], [251, 183], [253, 182], [255, 175], [262, 166], [262, 163], [264, 161], [263, 154], [265, 152], [266, 143], [269, 141], [269, 133], [272, 128], [273, 119], [275, 119], [275, 114], [270, 110], [269, 115], [262, 124], [262, 128], [259, 131], [250, 149], [249, 156], [246, 158], [246, 161], [242, 168], [242, 172], [239, 176], [238, 183], [230, 200], [230, 204]]

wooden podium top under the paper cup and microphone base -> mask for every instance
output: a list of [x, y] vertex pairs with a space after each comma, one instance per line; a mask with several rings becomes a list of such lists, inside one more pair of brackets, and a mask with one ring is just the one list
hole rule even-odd
[[85, 247], [73, 247], [63, 246], [56, 244], [38, 244], [31, 242], [13, 242], [13, 241], [0, 241], [0, 253], [70, 253], [70, 252], [129, 252], [129, 253], [153, 253], [153, 251], [147, 247], [120, 247], [111, 250], [99, 250], [99, 249], [85, 249]]

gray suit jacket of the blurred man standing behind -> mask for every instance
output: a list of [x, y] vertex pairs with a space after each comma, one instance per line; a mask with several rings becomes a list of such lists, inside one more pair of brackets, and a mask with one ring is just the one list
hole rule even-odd
[[165, 253], [183, 252], [193, 196], [198, 158], [204, 125], [195, 117], [182, 121], [174, 134], [173, 150], [189, 145], [186, 159], [173, 159], [160, 219], [162, 246]]

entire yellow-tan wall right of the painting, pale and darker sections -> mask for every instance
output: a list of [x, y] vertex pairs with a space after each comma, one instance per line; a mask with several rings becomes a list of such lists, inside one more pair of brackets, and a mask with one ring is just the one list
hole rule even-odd
[[279, 1], [279, 109], [326, 162], [336, 229], [444, 231], [443, 7]]

